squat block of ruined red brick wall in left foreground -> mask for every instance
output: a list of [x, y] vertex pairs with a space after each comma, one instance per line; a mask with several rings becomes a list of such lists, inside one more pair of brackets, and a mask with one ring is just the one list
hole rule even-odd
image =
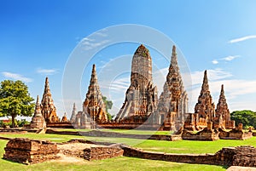
[[55, 143], [20, 138], [9, 140], [4, 150], [4, 159], [24, 164], [55, 159], [57, 158], [56, 154], [59, 152]]

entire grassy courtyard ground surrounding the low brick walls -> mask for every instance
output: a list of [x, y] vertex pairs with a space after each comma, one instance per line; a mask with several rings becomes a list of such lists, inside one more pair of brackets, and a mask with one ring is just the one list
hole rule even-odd
[[[76, 129], [55, 129], [60, 132], [76, 132]], [[79, 130], [81, 131], [81, 130]], [[90, 131], [84, 129], [84, 132]], [[122, 134], [158, 134], [167, 135], [171, 134], [168, 131], [142, 131], [142, 130], [122, 130], [105, 129], [102, 132], [114, 132]], [[18, 162], [11, 162], [3, 159], [4, 148], [9, 140], [13, 138], [27, 138], [32, 140], [48, 140], [58, 144], [58, 149], [83, 149], [88, 145], [66, 145], [68, 140], [88, 140], [92, 142], [108, 142], [130, 145], [132, 148], [141, 149], [143, 151], [165, 152], [178, 154], [191, 154], [191, 155], [205, 155], [214, 154], [221, 150], [223, 147], [251, 145], [256, 146], [256, 138], [253, 137], [248, 140], [216, 140], [216, 141], [198, 141], [198, 140], [179, 140], [179, 141], [166, 141], [166, 140], [142, 140], [132, 138], [114, 138], [114, 137], [96, 137], [96, 136], [81, 136], [71, 134], [35, 134], [35, 133], [2, 133], [0, 134], [0, 167], [2, 170], [225, 170], [228, 166], [221, 165], [207, 165], [207, 164], [189, 164], [181, 162], [166, 162], [160, 160], [148, 160], [138, 157], [113, 157], [103, 160], [84, 160], [79, 157], [66, 156], [57, 154], [56, 159], [47, 162], [35, 163], [31, 165], [20, 164]], [[4, 140], [6, 139], [6, 140]], [[61, 147], [60, 147], [61, 146]], [[92, 145], [101, 146], [101, 145]]]

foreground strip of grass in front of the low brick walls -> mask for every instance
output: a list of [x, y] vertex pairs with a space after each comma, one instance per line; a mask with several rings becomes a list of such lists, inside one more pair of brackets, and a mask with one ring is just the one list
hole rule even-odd
[[[29, 134], [31, 136], [31, 134]], [[43, 138], [44, 135], [34, 136]], [[28, 134], [26, 134], [28, 136]], [[46, 137], [48, 139], [49, 136]], [[64, 137], [61, 136], [64, 139]], [[73, 137], [71, 137], [72, 139]], [[66, 140], [70, 138], [66, 137]], [[58, 140], [55, 140], [58, 141]], [[82, 161], [82, 162], [58, 162], [50, 161], [32, 165], [24, 165], [17, 162], [3, 160], [3, 148], [7, 140], [0, 140], [0, 168], [4, 171], [79, 171], [79, 170], [225, 170], [222, 166], [203, 165], [203, 164], [185, 164], [177, 162], [163, 162], [155, 160], [145, 160], [133, 157], [116, 157], [101, 161]]]

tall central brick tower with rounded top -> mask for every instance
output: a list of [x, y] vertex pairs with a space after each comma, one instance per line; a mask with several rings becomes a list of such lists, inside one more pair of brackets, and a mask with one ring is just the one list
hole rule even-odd
[[157, 88], [152, 81], [152, 60], [148, 48], [140, 45], [131, 61], [131, 85], [125, 94], [116, 122], [143, 123], [157, 110]]

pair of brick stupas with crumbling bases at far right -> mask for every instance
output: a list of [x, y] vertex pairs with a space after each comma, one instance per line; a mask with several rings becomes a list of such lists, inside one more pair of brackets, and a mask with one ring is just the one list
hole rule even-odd
[[230, 111], [224, 96], [224, 85], [221, 86], [217, 109], [212, 102], [207, 71], [204, 72], [201, 94], [195, 105], [195, 113], [189, 113], [184, 123], [184, 128], [189, 130], [201, 130], [212, 123], [212, 128], [235, 128], [235, 121], [230, 120]]

